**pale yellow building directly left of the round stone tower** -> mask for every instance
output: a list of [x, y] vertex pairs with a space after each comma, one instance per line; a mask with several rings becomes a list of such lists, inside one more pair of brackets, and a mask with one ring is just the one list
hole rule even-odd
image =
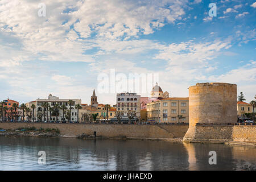
[[148, 102], [147, 119], [152, 122], [188, 123], [188, 97], [170, 97]]

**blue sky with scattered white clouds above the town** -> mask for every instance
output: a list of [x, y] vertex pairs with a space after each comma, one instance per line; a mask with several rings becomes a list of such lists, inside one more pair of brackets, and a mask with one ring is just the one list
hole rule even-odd
[[98, 102], [113, 105], [116, 93], [99, 88], [112, 69], [157, 74], [170, 97], [188, 97], [197, 82], [237, 84], [250, 102], [255, 15], [255, 0], [1, 0], [0, 100], [26, 103], [51, 93], [89, 104], [95, 89]]

